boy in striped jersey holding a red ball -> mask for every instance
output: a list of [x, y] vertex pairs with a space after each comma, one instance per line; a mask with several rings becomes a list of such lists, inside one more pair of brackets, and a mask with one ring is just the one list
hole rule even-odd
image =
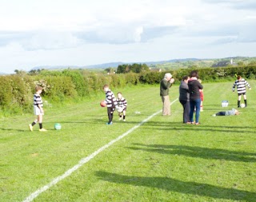
[[112, 125], [114, 109], [116, 105], [118, 105], [118, 102], [114, 97], [114, 93], [110, 90], [109, 85], [104, 85], [103, 89], [106, 93], [105, 102], [107, 107], [107, 115], [109, 117], [109, 122], [107, 122], [106, 125]]

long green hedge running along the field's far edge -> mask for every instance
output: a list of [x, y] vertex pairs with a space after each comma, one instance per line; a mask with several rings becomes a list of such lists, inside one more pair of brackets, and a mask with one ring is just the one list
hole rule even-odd
[[[170, 71], [179, 84], [182, 77], [192, 69]], [[194, 70], [194, 69], [193, 69]], [[256, 66], [237, 66], [225, 68], [202, 68], [198, 70], [203, 82], [234, 81], [235, 75], [255, 79]], [[17, 74], [0, 76], [0, 107], [2, 112], [23, 113], [33, 105], [34, 86], [42, 85], [42, 95], [49, 101], [62, 102], [78, 97], [90, 97], [102, 93], [105, 84], [111, 88], [124, 88], [127, 85], [158, 84], [166, 72], [144, 73], [90, 73], [86, 69], [65, 69], [63, 71], [42, 70], [38, 75]]]

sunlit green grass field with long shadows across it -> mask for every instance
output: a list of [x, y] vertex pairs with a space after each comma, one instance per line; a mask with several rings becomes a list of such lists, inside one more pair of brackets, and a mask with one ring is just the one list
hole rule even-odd
[[[256, 201], [256, 82], [250, 81], [248, 107], [230, 117], [211, 115], [236, 108], [233, 83], [203, 85], [201, 125], [182, 124], [178, 85], [170, 89], [170, 117], [159, 113], [158, 86], [137, 86], [114, 89], [128, 101], [126, 122], [114, 113], [114, 124], [106, 125], [103, 92], [84, 103], [46, 108], [46, 133], [38, 125], [29, 131], [32, 113], [2, 119], [0, 201], [24, 201], [47, 184], [34, 201]], [[57, 122], [62, 130], [54, 130]], [[90, 160], [81, 163], [86, 156]]]

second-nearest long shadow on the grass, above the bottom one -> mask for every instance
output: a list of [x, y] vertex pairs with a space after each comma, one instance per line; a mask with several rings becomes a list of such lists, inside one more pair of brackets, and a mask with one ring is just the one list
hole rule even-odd
[[202, 159], [256, 162], [256, 153], [254, 152], [236, 152], [226, 149], [210, 149], [185, 145], [134, 145], [138, 147], [130, 147], [128, 149], [158, 152], [170, 155], [190, 156]]

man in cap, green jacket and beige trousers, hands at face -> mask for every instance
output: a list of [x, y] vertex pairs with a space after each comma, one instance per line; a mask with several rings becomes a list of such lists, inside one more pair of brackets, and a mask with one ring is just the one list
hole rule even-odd
[[174, 83], [174, 78], [171, 78], [170, 73], [166, 73], [160, 82], [160, 96], [162, 97], [162, 115], [170, 115], [170, 98], [169, 98], [169, 89], [170, 86]]

